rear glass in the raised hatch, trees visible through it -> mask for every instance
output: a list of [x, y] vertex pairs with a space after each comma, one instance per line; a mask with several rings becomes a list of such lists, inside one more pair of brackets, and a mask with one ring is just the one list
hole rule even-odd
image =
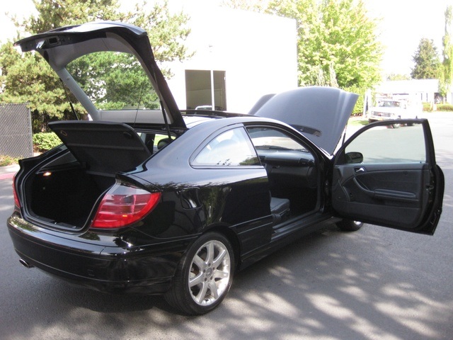
[[134, 55], [95, 52], [70, 62], [67, 70], [98, 110], [159, 108], [156, 91]]

